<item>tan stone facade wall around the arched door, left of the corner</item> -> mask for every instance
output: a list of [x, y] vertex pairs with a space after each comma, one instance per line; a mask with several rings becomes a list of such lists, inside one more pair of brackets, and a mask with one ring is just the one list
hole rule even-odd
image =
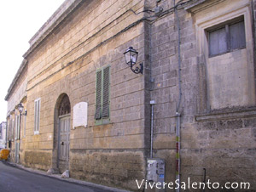
[[[143, 1], [82, 3], [27, 56], [26, 166], [47, 169], [56, 164], [56, 157], [46, 151], [57, 148], [55, 106], [60, 95], [66, 93], [71, 104], [71, 125], [73, 106], [88, 103], [87, 127], [71, 126], [71, 176], [126, 189], [134, 189], [135, 178], [144, 178], [144, 76], [132, 73], [123, 53], [133, 46], [139, 52], [138, 63], [143, 62], [146, 42], [144, 23], [132, 24], [142, 15], [127, 8], [142, 9]], [[96, 70], [105, 65], [110, 65], [111, 73], [110, 123], [96, 126]], [[34, 100], [38, 98], [40, 128], [39, 134], [34, 135]], [[40, 160], [38, 156], [43, 151], [45, 158]]]

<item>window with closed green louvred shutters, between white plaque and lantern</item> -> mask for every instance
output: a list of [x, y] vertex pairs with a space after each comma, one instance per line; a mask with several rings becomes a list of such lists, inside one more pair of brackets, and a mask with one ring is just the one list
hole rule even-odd
[[106, 124], [110, 121], [110, 66], [96, 71], [96, 125]]

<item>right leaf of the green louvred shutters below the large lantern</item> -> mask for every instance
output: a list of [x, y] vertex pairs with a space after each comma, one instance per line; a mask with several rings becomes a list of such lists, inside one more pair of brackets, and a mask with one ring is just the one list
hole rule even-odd
[[106, 67], [103, 69], [103, 93], [102, 93], [102, 117], [109, 117], [109, 69]]

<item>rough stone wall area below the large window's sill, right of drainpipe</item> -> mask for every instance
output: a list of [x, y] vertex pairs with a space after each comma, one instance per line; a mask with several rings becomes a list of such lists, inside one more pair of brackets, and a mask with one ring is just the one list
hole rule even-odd
[[[182, 179], [187, 181], [190, 178], [191, 184], [202, 182], [205, 168], [207, 181], [217, 182], [220, 187], [226, 183], [234, 183], [235, 188], [236, 184], [239, 185], [236, 190], [219, 191], [255, 191], [254, 114], [254, 110], [211, 114], [197, 117], [197, 124], [185, 125], [181, 151]], [[246, 183], [250, 188], [241, 189]]]

